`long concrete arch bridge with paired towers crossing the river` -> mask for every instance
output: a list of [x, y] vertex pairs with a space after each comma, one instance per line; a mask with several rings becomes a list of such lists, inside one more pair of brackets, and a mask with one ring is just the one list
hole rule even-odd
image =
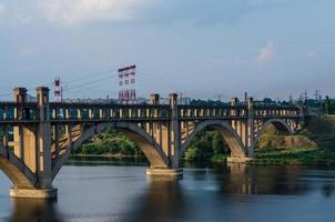
[[136, 143], [150, 162], [148, 175], [177, 176], [183, 152], [207, 127], [226, 141], [229, 162], [247, 162], [266, 125], [294, 133], [304, 123], [302, 108], [262, 105], [253, 98], [233, 98], [229, 105], [179, 104], [175, 93], [169, 104], [160, 104], [159, 94], [151, 94], [150, 104], [69, 103], [50, 102], [48, 88], [35, 91], [33, 102], [24, 88], [13, 90], [13, 101], [0, 102], [0, 168], [13, 183], [14, 198], [55, 198], [52, 181], [71, 152], [106, 128]]

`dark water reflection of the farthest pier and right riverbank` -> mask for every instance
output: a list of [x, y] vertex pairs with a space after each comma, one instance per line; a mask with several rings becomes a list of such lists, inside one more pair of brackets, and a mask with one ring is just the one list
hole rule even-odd
[[255, 167], [229, 163], [216, 174], [223, 193], [303, 195], [311, 184], [301, 181], [303, 169], [298, 167]]

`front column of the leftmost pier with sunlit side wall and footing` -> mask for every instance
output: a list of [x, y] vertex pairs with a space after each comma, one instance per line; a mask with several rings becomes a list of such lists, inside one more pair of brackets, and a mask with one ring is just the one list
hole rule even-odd
[[34, 130], [23, 129], [23, 133], [19, 134], [14, 132], [14, 137], [20, 137], [22, 141], [19, 143], [21, 150], [23, 150], [23, 152], [20, 152], [20, 158], [29, 170], [35, 174], [35, 181], [31, 188], [12, 188], [10, 190], [12, 198], [51, 199], [57, 196], [57, 189], [52, 188], [49, 89], [37, 88], [37, 118], [40, 122]]

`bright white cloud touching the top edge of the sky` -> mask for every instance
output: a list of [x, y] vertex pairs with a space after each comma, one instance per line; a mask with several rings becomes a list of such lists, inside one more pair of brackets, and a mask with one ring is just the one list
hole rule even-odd
[[132, 10], [152, 0], [37, 0], [48, 21], [83, 23], [133, 19]]

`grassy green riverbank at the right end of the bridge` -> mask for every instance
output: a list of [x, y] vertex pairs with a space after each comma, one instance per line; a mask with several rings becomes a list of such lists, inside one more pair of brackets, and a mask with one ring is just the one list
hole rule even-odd
[[[291, 144], [281, 143], [285, 139]], [[258, 148], [250, 164], [335, 165], [335, 115], [309, 117], [304, 130], [297, 134], [270, 132], [263, 135], [263, 140], [270, 145]], [[292, 141], [301, 142], [295, 144]]]

